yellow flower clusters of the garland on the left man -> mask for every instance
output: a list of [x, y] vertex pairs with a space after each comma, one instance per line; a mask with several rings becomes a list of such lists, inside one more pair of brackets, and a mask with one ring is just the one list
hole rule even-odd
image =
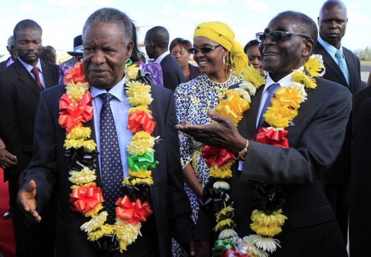
[[[129, 114], [135, 111], [151, 112], [148, 109], [148, 105], [152, 102], [152, 97], [150, 94], [150, 86], [139, 81], [136, 81], [137, 73], [139, 67], [127, 67], [126, 69], [126, 92], [128, 95], [128, 103], [132, 106]], [[89, 84], [86, 83], [68, 83], [66, 86], [66, 92], [68, 98], [72, 102], [79, 102], [83, 95], [89, 93]], [[90, 93], [89, 93], [90, 95]], [[72, 129], [70, 133], [67, 134], [64, 147], [66, 149], [84, 147], [87, 150], [95, 150], [96, 144], [94, 140], [86, 140], [90, 137], [91, 129], [79, 125], [78, 127]], [[138, 131], [133, 137], [132, 141], [129, 142], [128, 151], [130, 155], [143, 155], [146, 152], [153, 152], [155, 138], [149, 133], [144, 131]], [[134, 179], [129, 180], [129, 178], [124, 178], [122, 185], [135, 185], [136, 183], [145, 182], [147, 185], [152, 185], [153, 180], [151, 178], [151, 171], [131, 171], [129, 173]], [[74, 183], [71, 187], [72, 189], [79, 189], [82, 187], [89, 187], [94, 184], [96, 179], [95, 169], [90, 170], [88, 167], [84, 167], [81, 171], [73, 171], [70, 173], [71, 177], [69, 180]], [[102, 203], [97, 204], [97, 206], [85, 213], [86, 217], [91, 217], [91, 219], [81, 226], [81, 230], [85, 231], [88, 235], [88, 240], [97, 241], [104, 234], [115, 234], [120, 240], [118, 250], [122, 252], [127, 249], [127, 246], [132, 244], [141, 235], [140, 228], [141, 222], [133, 225], [126, 221], [121, 221], [116, 218], [116, 222], [113, 225], [105, 224], [107, 219], [107, 211], [102, 211]]]

